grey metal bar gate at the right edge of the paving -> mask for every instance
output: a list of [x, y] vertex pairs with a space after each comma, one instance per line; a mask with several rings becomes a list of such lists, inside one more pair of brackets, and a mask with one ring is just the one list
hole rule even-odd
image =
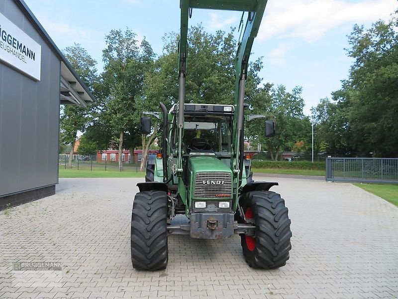
[[326, 158], [326, 181], [398, 184], [398, 158]]

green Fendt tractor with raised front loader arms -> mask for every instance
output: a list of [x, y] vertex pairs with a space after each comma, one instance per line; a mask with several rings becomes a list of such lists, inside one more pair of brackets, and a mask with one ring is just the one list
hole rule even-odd
[[[243, 148], [244, 121], [272, 118], [245, 115], [247, 68], [267, 0], [181, 0], [178, 103], [151, 112], [161, 119], [162, 149], [148, 159], [146, 181], [138, 183], [131, 217], [131, 260], [138, 270], [167, 267], [170, 234], [224, 239], [239, 234], [250, 267], [279, 268], [291, 249], [291, 221], [285, 201], [269, 189], [276, 182], [253, 181]], [[236, 55], [234, 105], [185, 104], [188, 19], [194, 8], [247, 14]], [[232, 99], [231, 99], [232, 101]], [[217, 102], [217, 99], [214, 99]], [[141, 133], [151, 119], [141, 117]], [[275, 122], [265, 120], [273, 137]], [[184, 214], [189, 222], [173, 224]], [[175, 222], [175, 221], [174, 221]], [[182, 221], [179, 221], [181, 223]], [[216, 241], [215, 241], [216, 242]]]

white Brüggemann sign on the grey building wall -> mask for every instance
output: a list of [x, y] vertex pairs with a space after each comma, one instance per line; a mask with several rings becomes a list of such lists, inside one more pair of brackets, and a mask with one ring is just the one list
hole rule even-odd
[[1, 13], [0, 60], [40, 81], [41, 46]]

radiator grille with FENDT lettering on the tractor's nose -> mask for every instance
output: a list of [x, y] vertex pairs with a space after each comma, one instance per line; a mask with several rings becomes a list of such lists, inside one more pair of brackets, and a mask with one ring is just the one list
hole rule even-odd
[[195, 198], [232, 197], [232, 178], [228, 172], [198, 172], [195, 178]]

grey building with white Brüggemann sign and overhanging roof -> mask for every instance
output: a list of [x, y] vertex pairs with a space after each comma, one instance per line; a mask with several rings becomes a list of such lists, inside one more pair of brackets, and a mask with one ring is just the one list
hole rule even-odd
[[95, 99], [23, 0], [0, 0], [0, 209], [55, 193], [61, 104]]

